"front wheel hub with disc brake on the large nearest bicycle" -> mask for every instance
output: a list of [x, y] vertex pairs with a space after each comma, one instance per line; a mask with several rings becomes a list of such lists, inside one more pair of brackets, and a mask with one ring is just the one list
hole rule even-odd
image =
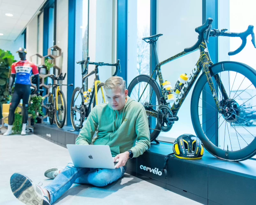
[[221, 100], [222, 116], [228, 122], [235, 122], [240, 116], [239, 104], [234, 99]]

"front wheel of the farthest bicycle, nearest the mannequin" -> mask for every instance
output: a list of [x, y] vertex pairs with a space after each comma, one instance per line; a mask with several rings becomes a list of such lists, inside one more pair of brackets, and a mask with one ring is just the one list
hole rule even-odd
[[57, 104], [57, 99], [55, 99], [54, 111], [55, 111], [56, 124], [58, 128], [62, 128], [66, 120], [67, 107], [66, 107], [66, 100], [65, 100], [64, 93], [61, 90], [58, 93], [58, 104]]

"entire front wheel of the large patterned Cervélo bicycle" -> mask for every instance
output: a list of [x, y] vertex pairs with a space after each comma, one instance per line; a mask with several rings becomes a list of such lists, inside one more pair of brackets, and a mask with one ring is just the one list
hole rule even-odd
[[[256, 71], [238, 62], [220, 62], [210, 70], [223, 113], [217, 111], [203, 73], [191, 97], [195, 132], [215, 157], [229, 161], [253, 157], [256, 154]], [[220, 80], [216, 79], [217, 74]], [[228, 99], [224, 99], [220, 85], [224, 86]]]

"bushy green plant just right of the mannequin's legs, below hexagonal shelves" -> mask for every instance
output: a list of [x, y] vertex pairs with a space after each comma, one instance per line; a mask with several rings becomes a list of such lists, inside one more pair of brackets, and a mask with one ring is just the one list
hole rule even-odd
[[39, 115], [44, 116], [42, 111], [42, 101], [45, 98], [42, 96], [35, 96], [31, 98], [30, 106], [28, 106], [28, 113], [32, 115], [35, 123], [37, 123], [37, 112]]

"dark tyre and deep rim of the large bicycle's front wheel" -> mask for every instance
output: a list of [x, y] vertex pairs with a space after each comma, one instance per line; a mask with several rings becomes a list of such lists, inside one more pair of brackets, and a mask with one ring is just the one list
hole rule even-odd
[[[246, 64], [239, 63], [239, 62], [226, 61], [226, 62], [219, 62], [217, 64], [214, 64], [209, 69], [211, 71], [211, 76], [221, 73], [221, 71], [224, 71], [224, 70], [228, 71], [228, 74], [229, 74], [229, 71], [234, 71], [234, 72], [240, 73], [240, 74], [244, 75], [245, 77], [247, 77], [249, 79], [249, 81], [251, 81], [252, 85], [254, 85], [254, 87], [256, 87], [256, 71]], [[228, 76], [228, 79], [230, 79], [229, 76]], [[240, 148], [240, 150], [227, 151], [225, 149], [222, 150], [222, 148], [219, 148], [219, 145], [215, 146], [209, 140], [209, 138], [205, 135], [205, 133], [207, 131], [205, 131], [205, 133], [204, 133], [203, 128], [201, 127], [200, 119], [198, 116], [198, 103], [199, 103], [199, 99], [201, 96], [201, 91], [203, 90], [204, 85], [206, 83], [207, 83], [207, 77], [205, 74], [202, 74], [198, 78], [198, 81], [196, 82], [196, 85], [194, 87], [192, 97], [191, 97], [191, 99], [193, 99], [193, 100], [191, 100], [191, 120], [192, 120], [194, 130], [196, 132], [196, 135], [201, 139], [203, 145], [205, 146], [205, 149], [208, 150], [208, 152], [210, 152], [212, 155], [214, 155], [217, 158], [225, 159], [228, 161], [243, 161], [243, 160], [253, 157], [256, 154], [256, 138], [255, 137], [251, 141], [251, 143], [249, 143], [249, 145], [247, 145], [246, 147], [244, 147], [242, 149]], [[231, 90], [232, 90], [232, 88], [231, 88]], [[235, 95], [233, 96], [233, 98], [234, 99], [236, 98]], [[224, 118], [224, 120], [226, 120], [226, 119]], [[231, 124], [231, 126], [232, 126], [232, 124]], [[219, 127], [219, 124], [217, 127]], [[225, 130], [226, 130], [226, 127], [225, 127]], [[219, 128], [218, 128], [218, 131], [219, 131]], [[236, 132], [236, 134], [238, 133], [238, 131], [236, 129], [235, 129], [235, 132]], [[229, 131], [228, 131], [228, 135], [229, 135]], [[239, 140], [238, 140], [238, 142], [239, 142]], [[230, 143], [231, 143], [231, 141], [230, 141]], [[224, 145], [225, 145], [225, 137], [224, 137]], [[240, 146], [240, 144], [239, 144], [239, 146]], [[232, 147], [231, 147], [231, 149], [232, 149]]]

